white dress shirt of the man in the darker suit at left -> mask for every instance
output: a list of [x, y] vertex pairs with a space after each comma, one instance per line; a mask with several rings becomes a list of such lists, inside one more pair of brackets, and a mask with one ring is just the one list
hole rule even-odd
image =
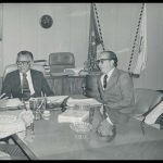
[[[35, 90], [34, 90], [34, 86], [33, 86], [30, 70], [26, 72], [26, 75], [27, 75], [26, 78], [28, 80], [30, 96], [32, 96], [35, 93]], [[21, 77], [21, 86], [23, 86], [23, 73], [21, 73], [21, 72], [20, 72], [20, 77]]]

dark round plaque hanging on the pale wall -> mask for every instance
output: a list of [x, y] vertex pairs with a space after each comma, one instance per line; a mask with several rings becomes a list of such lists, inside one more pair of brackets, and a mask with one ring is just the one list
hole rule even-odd
[[50, 28], [52, 26], [53, 20], [50, 15], [42, 15], [40, 17], [40, 25], [43, 28]]

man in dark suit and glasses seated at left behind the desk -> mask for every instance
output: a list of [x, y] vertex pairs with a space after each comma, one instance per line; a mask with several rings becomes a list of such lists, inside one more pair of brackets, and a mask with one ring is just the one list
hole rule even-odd
[[17, 70], [9, 73], [2, 85], [2, 93], [5, 93], [5, 97], [28, 100], [30, 97], [41, 97], [41, 95], [53, 96], [43, 74], [32, 70], [33, 63], [32, 52], [17, 53]]

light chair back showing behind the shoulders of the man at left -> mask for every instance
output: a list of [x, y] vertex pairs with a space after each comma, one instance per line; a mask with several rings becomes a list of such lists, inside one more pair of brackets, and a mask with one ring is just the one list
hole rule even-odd
[[[36, 71], [39, 71], [39, 72], [42, 72], [43, 75], [46, 74], [43, 65], [34, 63], [32, 68], [36, 70]], [[5, 70], [4, 70], [4, 73], [3, 73], [3, 79], [5, 78], [7, 74], [9, 74], [9, 73], [11, 73], [13, 71], [16, 71], [16, 70], [17, 70], [17, 65], [16, 64], [7, 65]]]

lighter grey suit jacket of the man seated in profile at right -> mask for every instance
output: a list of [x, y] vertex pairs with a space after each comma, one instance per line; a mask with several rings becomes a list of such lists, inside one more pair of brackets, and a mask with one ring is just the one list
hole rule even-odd
[[105, 110], [113, 123], [122, 123], [133, 112], [134, 84], [128, 73], [115, 68], [103, 90], [101, 76], [98, 78], [100, 101], [106, 104]]

